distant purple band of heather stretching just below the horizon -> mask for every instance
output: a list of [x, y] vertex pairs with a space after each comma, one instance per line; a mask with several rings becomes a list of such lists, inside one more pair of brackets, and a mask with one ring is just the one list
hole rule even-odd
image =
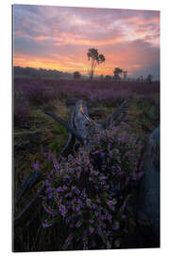
[[84, 99], [101, 101], [103, 104], [125, 99], [135, 94], [152, 97], [160, 93], [160, 82], [107, 82], [94, 80], [50, 80], [50, 79], [14, 79], [14, 91], [22, 90], [28, 101], [42, 104], [44, 101]]

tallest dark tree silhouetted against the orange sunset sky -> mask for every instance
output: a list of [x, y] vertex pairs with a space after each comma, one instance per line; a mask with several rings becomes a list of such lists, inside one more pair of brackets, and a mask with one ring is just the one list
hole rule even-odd
[[98, 50], [95, 48], [90, 48], [87, 53], [87, 56], [88, 61], [92, 60], [91, 68], [89, 69], [89, 76], [92, 80], [96, 64], [102, 64], [105, 62], [106, 59], [103, 54], [98, 54]]

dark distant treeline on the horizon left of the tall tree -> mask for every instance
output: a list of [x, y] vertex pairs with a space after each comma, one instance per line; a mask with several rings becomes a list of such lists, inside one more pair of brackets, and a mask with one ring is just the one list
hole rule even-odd
[[21, 67], [14, 66], [13, 67], [14, 76], [18, 77], [33, 77], [33, 78], [65, 78], [71, 79], [73, 78], [73, 74], [67, 72], [61, 72], [55, 69], [44, 69], [44, 68], [33, 68], [33, 67]]

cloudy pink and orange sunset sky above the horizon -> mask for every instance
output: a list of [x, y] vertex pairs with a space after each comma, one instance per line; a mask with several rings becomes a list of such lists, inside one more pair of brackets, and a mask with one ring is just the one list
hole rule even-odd
[[160, 79], [160, 11], [14, 5], [14, 65], [87, 74], [92, 47], [106, 58], [97, 75]]

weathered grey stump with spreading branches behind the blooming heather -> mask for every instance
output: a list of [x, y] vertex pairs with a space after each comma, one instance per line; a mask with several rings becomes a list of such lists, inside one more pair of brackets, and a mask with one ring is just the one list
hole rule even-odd
[[[57, 120], [69, 132], [68, 140], [61, 151], [61, 155], [64, 155], [66, 152], [68, 153], [67, 149], [69, 148], [69, 145], [71, 145], [71, 141], [73, 141], [71, 152], [75, 152], [79, 147], [79, 142], [81, 145], [88, 144], [88, 141], [96, 132], [110, 128], [110, 124], [113, 126], [119, 125], [126, 117], [129, 102], [129, 99], [123, 101], [113, 114], [102, 124], [97, 123], [89, 117], [86, 101], [83, 100], [76, 101], [76, 105], [72, 110], [71, 119], [68, 123], [63, 119], [60, 119], [59, 116], [52, 111], [44, 112], [46, 115]], [[59, 161], [60, 159], [61, 156], [59, 157]]]

